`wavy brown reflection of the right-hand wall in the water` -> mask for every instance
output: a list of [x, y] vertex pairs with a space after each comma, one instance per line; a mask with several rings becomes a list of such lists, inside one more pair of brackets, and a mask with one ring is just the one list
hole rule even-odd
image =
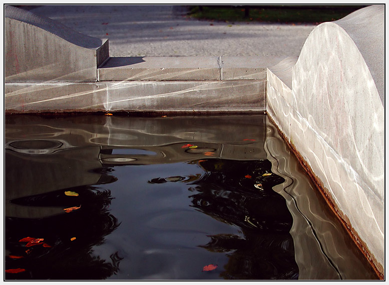
[[293, 216], [290, 233], [299, 279], [376, 278], [367, 260], [312, 186], [271, 123], [267, 125], [265, 149], [273, 164], [272, 172], [285, 179], [273, 190], [285, 198]]

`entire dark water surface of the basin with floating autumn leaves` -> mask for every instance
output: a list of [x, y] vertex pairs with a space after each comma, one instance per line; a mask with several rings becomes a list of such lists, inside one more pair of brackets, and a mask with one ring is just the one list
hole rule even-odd
[[265, 115], [9, 115], [5, 144], [6, 279], [376, 278]]

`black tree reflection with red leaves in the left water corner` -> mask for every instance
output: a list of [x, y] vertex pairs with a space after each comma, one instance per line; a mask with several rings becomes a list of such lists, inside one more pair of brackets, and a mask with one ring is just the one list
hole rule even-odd
[[[79, 196], [66, 196], [65, 191]], [[7, 278], [106, 279], [117, 273], [121, 260], [118, 252], [111, 254], [111, 260], [104, 260], [94, 256], [92, 250], [120, 225], [108, 210], [112, 199], [107, 189], [80, 186], [11, 200], [16, 205], [58, 207], [63, 211], [41, 219], [6, 217], [7, 268], [26, 269]], [[77, 209], [64, 211], [72, 207]], [[46, 246], [27, 247], [20, 242], [25, 237], [43, 238]]]

